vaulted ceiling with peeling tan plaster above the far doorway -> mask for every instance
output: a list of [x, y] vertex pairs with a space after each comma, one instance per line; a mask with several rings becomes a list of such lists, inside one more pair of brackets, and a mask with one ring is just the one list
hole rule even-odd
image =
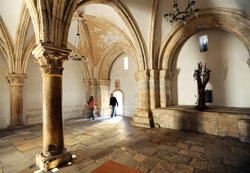
[[81, 16], [79, 52], [92, 59], [96, 66], [105, 55], [109, 47], [118, 43], [127, 43], [132, 40], [124, 21], [110, 6], [103, 4], [88, 4], [80, 7], [71, 22], [68, 40], [75, 44], [77, 33], [77, 19]]

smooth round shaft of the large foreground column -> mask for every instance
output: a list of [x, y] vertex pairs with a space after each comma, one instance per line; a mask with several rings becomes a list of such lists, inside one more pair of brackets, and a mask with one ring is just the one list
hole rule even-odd
[[43, 153], [49, 156], [63, 151], [62, 78], [44, 75]]

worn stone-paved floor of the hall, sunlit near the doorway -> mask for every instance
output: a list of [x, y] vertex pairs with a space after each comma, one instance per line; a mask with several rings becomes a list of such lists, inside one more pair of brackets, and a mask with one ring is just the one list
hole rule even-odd
[[[150, 173], [250, 172], [250, 145], [238, 139], [132, 127], [130, 120], [66, 121], [65, 145], [77, 157], [57, 172], [91, 172], [108, 160]], [[41, 125], [0, 131], [0, 173], [37, 171], [41, 150]]]

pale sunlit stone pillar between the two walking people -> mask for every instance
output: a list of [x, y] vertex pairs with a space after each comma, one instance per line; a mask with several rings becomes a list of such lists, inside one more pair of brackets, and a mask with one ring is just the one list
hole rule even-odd
[[99, 113], [100, 116], [110, 116], [110, 80], [98, 80]]

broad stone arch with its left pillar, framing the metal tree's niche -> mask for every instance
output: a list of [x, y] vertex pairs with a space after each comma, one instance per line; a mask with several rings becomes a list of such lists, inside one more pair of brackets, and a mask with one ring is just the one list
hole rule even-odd
[[232, 33], [250, 51], [250, 16], [242, 11], [227, 8], [202, 9], [199, 17], [192, 16], [186, 25], [177, 23], [165, 37], [159, 54], [161, 107], [171, 105], [172, 62], [177, 49], [201, 29], [219, 29]]

